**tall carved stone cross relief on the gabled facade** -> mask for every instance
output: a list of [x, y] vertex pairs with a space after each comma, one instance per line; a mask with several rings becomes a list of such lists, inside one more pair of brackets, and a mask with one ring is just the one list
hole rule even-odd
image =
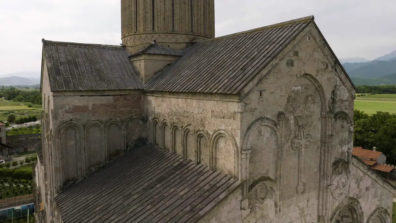
[[299, 157], [297, 194], [305, 192], [305, 148], [308, 148], [311, 142], [311, 135], [307, 134], [307, 129], [303, 126], [299, 127], [296, 136], [291, 141], [291, 146], [293, 150], [298, 150]]

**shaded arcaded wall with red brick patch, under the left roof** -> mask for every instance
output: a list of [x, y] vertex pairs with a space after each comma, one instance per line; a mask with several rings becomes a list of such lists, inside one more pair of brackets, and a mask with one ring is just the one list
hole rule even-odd
[[[84, 178], [145, 137], [141, 90], [53, 96], [55, 185]], [[59, 174], [58, 174], [59, 173]]]

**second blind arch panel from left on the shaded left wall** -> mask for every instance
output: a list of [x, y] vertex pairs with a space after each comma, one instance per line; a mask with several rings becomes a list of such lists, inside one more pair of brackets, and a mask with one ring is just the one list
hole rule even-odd
[[105, 163], [105, 153], [103, 150], [103, 134], [99, 125], [91, 125], [87, 130], [87, 155], [88, 167]]

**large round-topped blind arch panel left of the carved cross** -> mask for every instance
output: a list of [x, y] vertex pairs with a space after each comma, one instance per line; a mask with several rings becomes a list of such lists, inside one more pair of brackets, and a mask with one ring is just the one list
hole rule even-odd
[[249, 183], [260, 176], [276, 179], [277, 143], [275, 129], [258, 125], [249, 135]]

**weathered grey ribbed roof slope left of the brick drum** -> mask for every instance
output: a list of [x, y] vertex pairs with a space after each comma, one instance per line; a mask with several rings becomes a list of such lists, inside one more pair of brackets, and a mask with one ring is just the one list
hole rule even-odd
[[51, 91], [143, 89], [122, 46], [42, 42]]

